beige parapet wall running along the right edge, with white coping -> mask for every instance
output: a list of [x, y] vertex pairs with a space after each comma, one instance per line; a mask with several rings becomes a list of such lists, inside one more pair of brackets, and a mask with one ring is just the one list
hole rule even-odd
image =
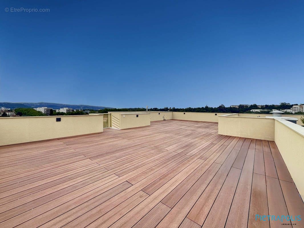
[[275, 119], [275, 144], [304, 199], [304, 127]]

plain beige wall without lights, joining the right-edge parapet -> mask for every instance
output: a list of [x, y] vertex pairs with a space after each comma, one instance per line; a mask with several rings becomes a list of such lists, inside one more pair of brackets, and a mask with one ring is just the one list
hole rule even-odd
[[219, 116], [218, 132], [221, 135], [262, 140], [275, 139], [274, 119], [258, 117]]

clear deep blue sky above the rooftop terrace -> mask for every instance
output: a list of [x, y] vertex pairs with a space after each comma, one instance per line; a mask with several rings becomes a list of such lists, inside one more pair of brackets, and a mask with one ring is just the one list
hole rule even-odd
[[117, 108], [304, 102], [303, 1], [0, 5], [1, 102]]

